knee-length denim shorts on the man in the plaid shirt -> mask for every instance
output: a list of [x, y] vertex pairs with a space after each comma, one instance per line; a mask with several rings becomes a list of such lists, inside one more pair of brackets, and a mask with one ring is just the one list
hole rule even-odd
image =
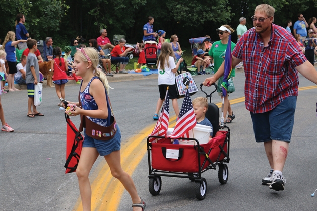
[[290, 142], [296, 109], [297, 96], [285, 98], [274, 109], [265, 113], [252, 113], [256, 142], [282, 140]]

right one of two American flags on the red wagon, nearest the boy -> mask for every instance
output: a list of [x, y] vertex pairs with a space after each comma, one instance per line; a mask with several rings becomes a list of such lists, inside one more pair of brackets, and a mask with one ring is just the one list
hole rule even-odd
[[169, 138], [189, 138], [189, 131], [196, 125], [196, 118], [193, 110], [192, 100], [187, 90], [183, 104], [179, 112], [178, 120], [174, 131], [168, 136]]

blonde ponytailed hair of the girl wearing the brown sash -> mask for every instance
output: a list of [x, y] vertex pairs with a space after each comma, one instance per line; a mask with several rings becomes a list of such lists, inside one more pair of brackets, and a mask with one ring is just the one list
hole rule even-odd
[[[99, 68], [97, 68], [98, 63], [99, 63], [99, 56], [95, 48], [93, 47], [87, 47], [87, 48], [82, 48], [86, 55], [89, 57], [91, 61], [92, 68], [94, 70], [94, 75], [97, 76], [103, 83], [104, 87], [106, 88], [107, 94], [109, 94], [109, 89], [113, 89], [109, 86], [108, 80], [106, 75], [103, 73], [103, 71]], [[79, 50], [76, 51], [75, 55], [78, 55], [82, 61], [88, 62], [88, 59], [86, 56]], [[75, 56], [74, 55], [74, 56]]]

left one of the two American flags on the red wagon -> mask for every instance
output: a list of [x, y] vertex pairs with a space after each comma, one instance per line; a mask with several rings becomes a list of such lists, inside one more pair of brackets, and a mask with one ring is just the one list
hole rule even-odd
[[[157, 121], [151, 136], [166, 136], [169, 124], [169, 93], [166, 91], [165, 101], [160, 114], [160, 118]], [[149, 138], [149, 142], [155, 141], [157, 138]]]

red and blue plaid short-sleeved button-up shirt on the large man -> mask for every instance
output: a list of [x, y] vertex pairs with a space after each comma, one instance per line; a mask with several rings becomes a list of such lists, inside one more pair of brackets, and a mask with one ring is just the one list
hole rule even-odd
[[232, 55], [242, 58], [245, 72], [245, 107], [253, 113], [275, 108], [286, 97], [298, 95], [296, 66], [307, 59], [286, 29], [272, 24], [267, 46], [255, 29], [245, 32]]

